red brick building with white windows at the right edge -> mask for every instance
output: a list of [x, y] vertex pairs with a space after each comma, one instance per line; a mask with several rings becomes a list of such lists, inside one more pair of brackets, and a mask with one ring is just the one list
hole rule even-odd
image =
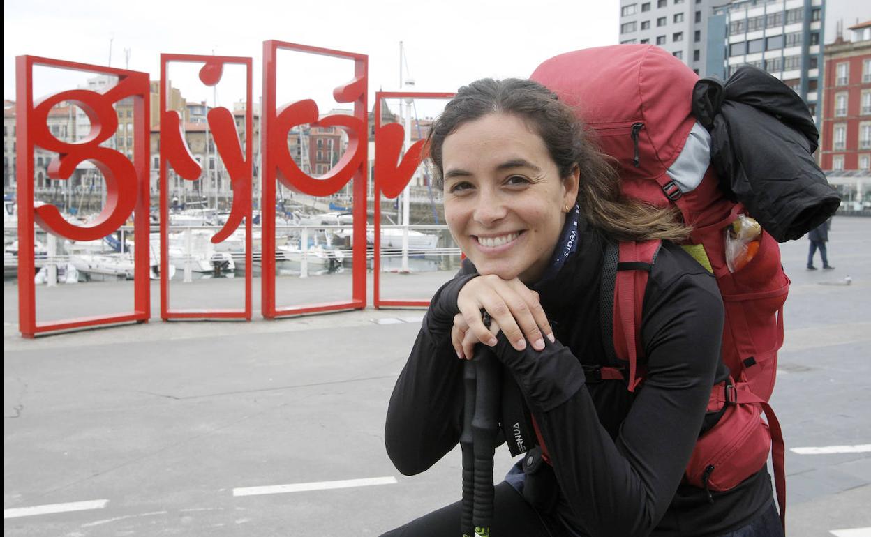
[[823, 53], [823, 170], [871, 169], [871, 21], [848, 30]]

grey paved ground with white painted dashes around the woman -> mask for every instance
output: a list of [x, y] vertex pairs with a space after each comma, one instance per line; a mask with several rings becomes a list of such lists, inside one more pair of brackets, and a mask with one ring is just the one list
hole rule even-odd
[[[831, 238], [834, 272], [805, 271], [807, 240], [782, 245], [793, 287], [773, 404], [791, 448], [871, 444], [871, 219], [836, 218]], [[385, 285], [420, 297], [447, 276]], [[239, 283], [199, 280], [172, 296], [232, 306]], [[124, 309], [126, 285], [43, 288], [40, 312]], [[341, 299], [349, 275], [282, 279], [280, 292], [286, 304]], [[6, 535], [377, 535], [458, 495], [458, 451], [415, 477], [384, 453], [389, 393], [421, 312], [152, 320], [24, 340], [17, 288], [3, 294]], [[497, 453], [497, 473], [510, 464]], [[791, 537], [871, 527], [871, 453], [789, 452], [787, 473]], [[373, 478], [389, 483], [241, 495]], [[55, 504], [90, 508], [17, 516]]]

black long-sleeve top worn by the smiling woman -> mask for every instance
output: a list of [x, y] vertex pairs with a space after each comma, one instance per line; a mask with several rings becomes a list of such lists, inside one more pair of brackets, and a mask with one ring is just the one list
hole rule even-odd
[[[715, 280], [664, 243], [645, 292], [641, 337], [645, 383], [588, 383], [583, 365], [604, 363], [599, 321], [603, 239], [584, 226], [580, 249], [557, 276], [534, 286], [556, 343], [516, 351], [503, 334], [496, 356], [514, 376], [557, 475], [557, 512], [590, 535], [716, 535], [746, 525], [770, 505], [765, 468], [725, 493], [681, 484], [715, 381], [723, 305]], [[395, 467], [423, 472], [456, 446], [462, 429], [463, 360], [450, 328], [467, 264], [433, 297], [388, 408], [385, 442]]]

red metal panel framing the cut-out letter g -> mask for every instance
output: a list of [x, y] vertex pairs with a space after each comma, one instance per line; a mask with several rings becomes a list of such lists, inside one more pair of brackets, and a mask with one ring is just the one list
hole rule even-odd
[[[61, 91], [33, 102], [33, 68], [42, 66], [63, 70], [80, 70], [118, 77], [118, 84], [106, 91], [84, 89]], [[44, 57], [16, 58], [17, 204], [18, 204], [18, 329], [25, 338], [37, 333], [56, 332], [90, 326], [125, 322], [146, 322], [151, 316], [149, 296], [149, 249], [134, 252], [134, 308], [132, 312], [109, 313], [78, 319], [38, 321], [36, 307], [34, 225], [57, 237], [72, 240], [104, 238], [134, 215], [136, 244], [148, 244], [149, 212], [149, 77], [148, 73], [111, 69], [98, 65], [78, 64]], [[105, 147], [115, 136], [118, 116], [113, 103], [132, 97], [133, 160], [119, 151]], [[78, 143], [55, 138], [48, 127], [51, 108], [61, 102], [75, 104], [87, 115], [91, 131]], [[73, 225], [54, 205], [34, 206], [33, 152], [35, 147], [57, 152], [48, 168], [51, 179], [68, 179], [78, 164], [89, 161], [103, 173], [106, 199], [103, 211], [89, 225]]]

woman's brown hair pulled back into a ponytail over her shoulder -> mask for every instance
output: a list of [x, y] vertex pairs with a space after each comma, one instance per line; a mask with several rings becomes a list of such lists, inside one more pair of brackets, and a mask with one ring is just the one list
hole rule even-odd
[[483, 78], [456, 93], [429, 131], [427, 148], [436, 176], [443, 184], [442, 145], [460, 125], [488, 114], [522, 117], [544, 140], [561, 178], [577, 168], [577, 203], [591, 225], [613, 240], [661, 238], [680, 242], [692, 231], [676, 209], [660, 209], [626, 198], [613, 160], [598, 150], [569, 106], [542, 84], [520, 78]]

